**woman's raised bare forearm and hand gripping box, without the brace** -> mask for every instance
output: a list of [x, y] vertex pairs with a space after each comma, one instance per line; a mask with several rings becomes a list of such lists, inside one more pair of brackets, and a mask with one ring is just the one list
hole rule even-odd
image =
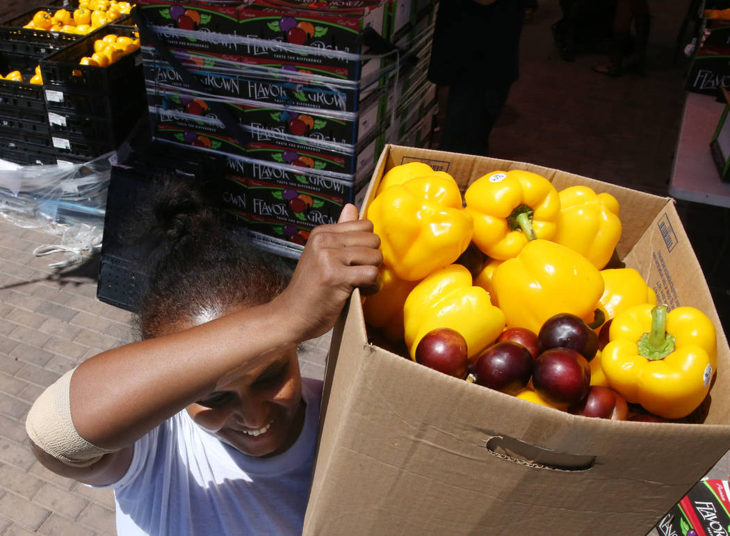
[[122, 465], [119, 460], [127, 459], [128, 467], [131, 456], [119, 451], [166, 418], [291, 345], [326, 333], [354, 288], [377, 285], [380, 240], [369, 221], [356, 217], [348, 205], [339, 223], [312, 231], [291, 282], [272, 302], [80, 364], [70, 383], [74, 427], [84, 440], [115, 452], [90, 467], [69, 469], [74, 474], [67, 476], [101, 475], [101, 462], [112, 456]]

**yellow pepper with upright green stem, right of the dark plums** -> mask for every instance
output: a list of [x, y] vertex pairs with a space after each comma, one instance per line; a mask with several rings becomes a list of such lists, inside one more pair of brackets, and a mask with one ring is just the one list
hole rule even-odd
[[717, 370], [715, 326], [694, 307], [635, 305], [613, 318], [601, 364], [627, 402], [682, 418], [710, 391]]

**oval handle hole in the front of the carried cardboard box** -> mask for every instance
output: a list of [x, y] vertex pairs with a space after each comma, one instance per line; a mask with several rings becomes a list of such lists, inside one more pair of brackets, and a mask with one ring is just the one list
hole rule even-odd
[[596, 463], [596, 456], [553, 451], [502, 435], [490, 437], [485, 447], [493, 456], [540, 469], [587, 471]]

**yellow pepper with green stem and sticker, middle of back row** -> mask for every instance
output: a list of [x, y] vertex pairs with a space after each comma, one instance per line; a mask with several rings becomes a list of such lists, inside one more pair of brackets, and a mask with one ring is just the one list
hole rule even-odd
[[537, 173], [491, 172], [466, 188], [464, 200], [474, 217], [473, 240], [492, 259], [512, 259], [530, 240], [556, 233], [558, 191]]

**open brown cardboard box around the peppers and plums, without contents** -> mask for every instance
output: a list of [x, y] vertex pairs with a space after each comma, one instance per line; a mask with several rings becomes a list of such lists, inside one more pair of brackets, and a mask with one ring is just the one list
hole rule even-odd
[[672, 199], [542, 166], [386, 145], [387, 169], [425, 161], [466, 187], [528, 169], [621, 204], [616, 253], [661, 302], [718, 332], [704, 424], [574, 416], [442, 375], [369, 342], [361, 296], [335, 326], [306, 535], [645, 535], [730, 448], [730, 350]]

